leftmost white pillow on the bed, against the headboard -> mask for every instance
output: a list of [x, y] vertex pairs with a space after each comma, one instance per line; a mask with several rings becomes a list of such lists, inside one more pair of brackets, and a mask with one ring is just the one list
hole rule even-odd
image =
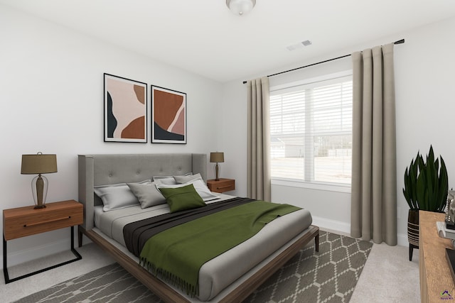
[[[139, 184], [151, 183], [151, 180], [144, 180]], [[124, 209], [125, 207], [138, 205], [139, 201], [126, 183], [107, 184], [94, 187], [95, 194], [102, 199], [102, 210], [112, 211]]]

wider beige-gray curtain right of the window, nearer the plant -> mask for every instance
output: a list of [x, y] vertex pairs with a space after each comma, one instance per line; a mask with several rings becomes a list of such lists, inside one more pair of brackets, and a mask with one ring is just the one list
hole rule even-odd
[[350, 235], [397, 245], [393, 44], [353, 53]]

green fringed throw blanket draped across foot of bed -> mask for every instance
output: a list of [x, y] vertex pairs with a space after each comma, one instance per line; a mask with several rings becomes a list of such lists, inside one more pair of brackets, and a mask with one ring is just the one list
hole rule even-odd
[[194, 297], [204, 263], [255, 236], [277, 216], [299, 209], [255, 201], [169, 228], [146, 241], [141, 265]]

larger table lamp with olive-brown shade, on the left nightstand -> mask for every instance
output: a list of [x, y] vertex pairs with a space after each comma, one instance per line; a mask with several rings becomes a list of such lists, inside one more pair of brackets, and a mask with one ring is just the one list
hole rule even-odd
[[41, 174], [50, 172], [57, 172], [56, 155], [43, 155], [41, 152], [36, 155], [22, 155], [21, 174], [38, 174], [31, 181], [31, 192], [35, 201], [35, 209], [45, 208], [45, 197], [48, 194], [48, 178]]

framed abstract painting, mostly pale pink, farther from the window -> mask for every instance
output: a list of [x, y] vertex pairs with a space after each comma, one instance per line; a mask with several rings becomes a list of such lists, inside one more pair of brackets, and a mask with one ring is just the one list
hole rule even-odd
[[105, 142], [147, 142], [147, 84], [105, 74]]

